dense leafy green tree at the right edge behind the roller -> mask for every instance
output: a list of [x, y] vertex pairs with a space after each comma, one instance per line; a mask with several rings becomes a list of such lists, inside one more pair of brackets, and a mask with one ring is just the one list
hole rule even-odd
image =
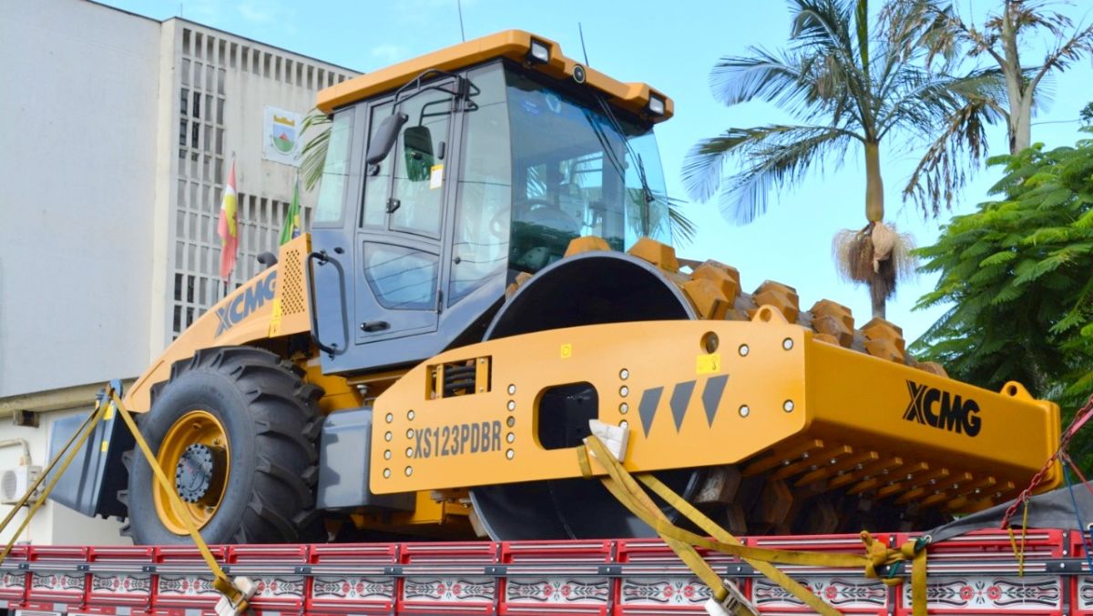
[[940, 277], [917, 308], [950, 308], [912, 351], [960, 380], [1021, 381], [1072, 410], [1093, 390], [1093, 140], [990, 162], [1004, 166], [1000, 199], [918, 250]]

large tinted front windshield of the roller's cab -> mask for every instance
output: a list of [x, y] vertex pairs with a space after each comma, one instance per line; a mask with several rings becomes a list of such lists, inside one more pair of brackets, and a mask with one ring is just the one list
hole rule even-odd
[[625, 250], [643, 236], [670, 241], [653, 127], [593, 97], [576, 99], [505, 71], [513, 221], [509, 266], [536, 272], [569, 240], [602, 237]]

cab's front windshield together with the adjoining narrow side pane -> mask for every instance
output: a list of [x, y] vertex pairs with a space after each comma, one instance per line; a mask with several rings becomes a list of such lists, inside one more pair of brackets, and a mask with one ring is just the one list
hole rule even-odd
[[[510, 282], [538, 272], [575, 237], [599, 236], [614, 250], [642, 237], [671, 241], [651, 123], [503, 62], [467, 76], [475, 94], [463, 109], [449, 304], [502, 273]], [[421, 205], [412, 201], [400, 211]]]

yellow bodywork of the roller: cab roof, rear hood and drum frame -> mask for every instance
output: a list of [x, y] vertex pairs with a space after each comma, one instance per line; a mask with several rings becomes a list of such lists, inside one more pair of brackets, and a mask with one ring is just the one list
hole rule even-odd
[[[534, 44], [549, 47], [549, 61], [527, 61]], [[587, 84], [607, 104], [635, 115], [656, 97], [663, 112], [643, 115], [650, 125], [672, 115], [671, 99], [647, 84], [580, 67], [556, 43], [521, 31], [349, 80], [322, 91], [318, 108], [344, 109], [426, 70], [455, 71], [495, 58]], [[552, 448], [540, 438], [541, 426], [555, 420], [544, 411], [544, 395], [575, 383], [595, 388], [591, 418], [627, 429], [623, 465], [635, 473], [732, 466], [740, 476], [808, 495], [837, 490], [967, 512], [1014, 497], [1057, 445], [1058, 407], [1032, 399], [1020, 384], [991, 392], [916, 369], [902, 339], [868, 332], [856, 339], [853, 317], [842, 307], [845, 323], [813, 307], [798, 324], [806, 311], [791, 287], [764, 283], [742, 294], [731, 268], [686, 263], [691, 273], [683, 273], [674, 251], [651, 239], [638, 240], [630, 257], [656, 268], [657, 284], [673, 285], [687, 313], [701, 320], [521, 333], [451, 348], [412, 367], [324, 374], [312, 335], [310, 241], [303, 234], [282, 246], [275, 265], [187, 328], [139, 377], [126, 404], [150, 411], [153, 388], [201, 350], [250, 345], [279, 355], [274, 363], [292, 360], [306, 383], [325, 391], [320, 413], [372, 407], [371, 493], [416, 493], [410, 509], [348, 512], [362, 529], [468, 536], [468, 488], [580, 477], [576, 445]], [[579, 237], [566, 257], [608, 249], [604, 239]], [[515, 292], [534, 281], [524, 271], [507, 282]], [[897, 328], [882, 322], [881, 329]], [[473, 387], [447, 387], [446, 370], [466, 375], [471, 366]], [[603, 470], [593, 463], [592, 472]], [[1060, 478], [1053, 466], [1041, 488]]]

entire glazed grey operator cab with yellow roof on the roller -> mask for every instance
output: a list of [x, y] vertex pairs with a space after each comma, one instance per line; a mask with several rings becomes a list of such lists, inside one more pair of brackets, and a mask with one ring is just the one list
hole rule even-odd
[[[473, 63], [453, 66], [462, 47], [498, 37], [494, 57], [468, 51]], [[481, 340], [506, 286], [561, 259], [575, 237], [614, 250], [670, 241], [653, 132], [670, 100], [586, 72], [527, 33], [465, 46], [320, 95], [333, 111], [312, 232], [324, 254], [312, 269], [326, 372]], [[397, 71], [406, 76], [387, 74]], [[380, 82], [374, 93], [368, 79]]]

